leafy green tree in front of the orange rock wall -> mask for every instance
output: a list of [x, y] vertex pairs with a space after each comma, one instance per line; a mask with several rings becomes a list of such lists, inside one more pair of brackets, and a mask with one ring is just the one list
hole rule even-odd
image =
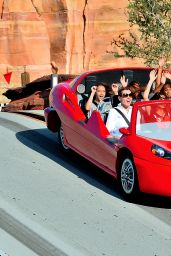
[[[112, 44], [126, 57], [143, 58], [145, 64], [171, 57], [171, 0], [129, 0], [129, 35], [121, 34]], [[114, 51], [115, 57], [123, 57]]]

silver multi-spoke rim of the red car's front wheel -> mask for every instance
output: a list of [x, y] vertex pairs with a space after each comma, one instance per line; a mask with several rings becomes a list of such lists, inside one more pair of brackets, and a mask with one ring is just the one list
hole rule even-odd
[[134, 166], [130, 159], [125, 159], [121, 168], [121, 184], [126, 194], [131, 194], [135, 184]]

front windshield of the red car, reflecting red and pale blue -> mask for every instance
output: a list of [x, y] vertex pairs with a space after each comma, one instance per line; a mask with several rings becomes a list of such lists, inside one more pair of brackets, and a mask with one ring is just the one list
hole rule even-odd
[[136, 134], [151, 139], [171, 141], [171, 103], [163, 101], [139, 106]]

